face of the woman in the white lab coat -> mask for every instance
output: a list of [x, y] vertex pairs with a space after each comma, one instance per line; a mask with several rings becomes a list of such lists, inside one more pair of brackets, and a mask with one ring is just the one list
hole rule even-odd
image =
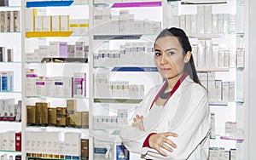
[[177, 37], [160, 37], [155, 42], [154, 60], [160, 74], [172, 79], [183, 73], [185, 60], [183, 48]]

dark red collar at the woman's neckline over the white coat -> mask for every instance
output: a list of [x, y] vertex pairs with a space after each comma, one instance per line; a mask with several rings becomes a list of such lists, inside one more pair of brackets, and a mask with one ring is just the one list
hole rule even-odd
[[[168, 96], [166, 102], [171, 98], [172, 94], [174, 94], [174, 93], [176, 92], [177, 88], [180, 86], [181, 83], [183, 83], [183, 80], [184, 80], [188, 75], [189, 75], [189, 74], [188, 74], [187, 72], [184, 72], [184, 73], [183, 73], [183, 76], [180, 77], [180, 78], [177, 80], [177, 83], [174, 85], [174, 87], [173, 87], [173, 89], [172, 89], [172, 92], [171, 92], [171, 94]], [[154, 100], [153, 100], [153, 102], [151, 103], [151, 106], [150, 106], [150, 109], [149, 109], [149, 110], [151, 110], [151, 108], [152, 108], [154, 102], [159, 98], [160, 93], [163, 91], [163, 89], [165, 89], [166, 85], [168, 85], [168, 84], [167, 84], [167, 80], [165, 81], [164, 85], [161, 87], [160, 91], [159, 91], [159, 92], [156, 94], [156, 96], [154, 97]], [[166, 105], [166, 103], [164, 104], [164, 106], [165, 106], [165, 105]]]

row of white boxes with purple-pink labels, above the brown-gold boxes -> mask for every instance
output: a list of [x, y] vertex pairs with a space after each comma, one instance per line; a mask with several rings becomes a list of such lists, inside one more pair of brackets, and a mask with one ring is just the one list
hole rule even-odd
[[33, 69], [26, 70], [26, 96], [85, 97], [86, 73], [73, 77], [38, 77]]

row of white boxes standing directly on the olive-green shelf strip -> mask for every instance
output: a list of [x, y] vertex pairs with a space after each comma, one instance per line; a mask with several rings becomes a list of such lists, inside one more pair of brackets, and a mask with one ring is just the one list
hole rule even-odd
[[95, 77], [95, 97], [117, 99], [143, 99], [144, 85], [129, 84], [128, 81], [108, 82], [108, 77], [97, 74]]

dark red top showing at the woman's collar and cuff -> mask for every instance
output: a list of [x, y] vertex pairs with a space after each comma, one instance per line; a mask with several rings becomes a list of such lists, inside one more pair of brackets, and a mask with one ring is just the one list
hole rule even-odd
[[[173, 89], [172, 89], [172, 92], [171, 92], [171, 94], [168, 96], [166, 102], [171, 98], [172, 94], [175, 93], [175, 91], [177, 90], [177, 88], [180, 86], [180, 84], [183, 82], [183, 80], [184, 80], [188, 75], [189, 75], [189, 74], [188, 74], [187, 72], [184, 72], [184, 73], [183, 73], [183, 76], [180, 77], [180, 78], [177, 80], [177, 83], [174, 85], [174, 87], [173, 87]], [[164, 83], [164, 85], [162, 86], [162, 88], [160, 89], [160, 91], [159, 91], [159, 92], [156, 94], [156, 96], [154, 97], [154, 100], [153, 100], [153, 102], [151, 103], [151, 106], [150, 106], [150, 109], [149, 109], [149, 110], [151, 110], [152, 106], [154, 105], [154, 102], [159, 98], [161, 92], [163, 92], [163, 90], [165, 89], [166, 85], [167, 85], [167, 81]], [[165, 105], [166, 105], [166, 103], [164, 104], [164, 106], [165, 106]], [[150, 147], [148, 140], [149, 140], [149, 138], [150, 138], [150, 136], [151, 136], [152, 134], [156, 134], [156, 133], [148, 134], [146, 140], [145, 140], [144, 143], [143, 143], [143, 147]]]

